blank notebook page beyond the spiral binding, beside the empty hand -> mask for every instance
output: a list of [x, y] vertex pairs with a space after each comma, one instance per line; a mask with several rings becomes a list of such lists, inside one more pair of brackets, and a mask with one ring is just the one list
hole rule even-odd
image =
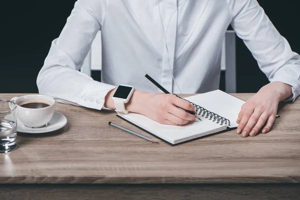
[[235, 122], [240, 111], [241, 105], [245, 101], [236, 98], [219, 89], [186, 97], [185, 99], [204, 107], [205, 109], [214, 112], [222, 117], [230, 120], [230, 126], [237, 127]]

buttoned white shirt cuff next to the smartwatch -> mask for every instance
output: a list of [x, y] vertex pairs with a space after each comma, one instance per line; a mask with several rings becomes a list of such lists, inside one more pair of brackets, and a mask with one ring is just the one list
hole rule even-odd
[[104, 107], [105, 96], [108, 91], [114, 88], [116, 88], [116, 86], [92, 80], [85, 85], [79, 94], [80, 96], [77, 103], [81, 106], [93, 109], [108, 109]]

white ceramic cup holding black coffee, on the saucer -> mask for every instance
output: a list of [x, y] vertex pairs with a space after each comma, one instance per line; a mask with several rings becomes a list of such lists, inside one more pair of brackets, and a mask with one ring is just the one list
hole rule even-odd
[[[55, 100], [46, 95], [29, 94], [21, 97], [11, 98], [12, 102], [17, 104], [16, 114], [17, 118], [27, 127], [43, 127], [52, 118], [54, 113]], [[22, 107], [26, 103], [44, 103], [48, 106], [42, 108], [27, 108]]]

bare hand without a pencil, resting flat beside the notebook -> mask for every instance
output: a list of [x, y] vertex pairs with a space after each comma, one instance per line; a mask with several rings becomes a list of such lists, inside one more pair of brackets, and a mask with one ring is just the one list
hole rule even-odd
[[243, 137], [255, 136], [262, 127], [262, 133], [268, 132], [276, 118], [279, 101], [291, 94], [291, 86], [279, 81], [261, 87], [241, 106], [236, 120], [237, 134]]

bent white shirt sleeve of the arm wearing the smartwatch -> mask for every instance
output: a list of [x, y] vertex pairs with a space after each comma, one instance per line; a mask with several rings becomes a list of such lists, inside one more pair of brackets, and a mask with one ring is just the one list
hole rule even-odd
[[62, 103], [103, 108], [105, 95], [116, 86], [95, 81], [79, 69], [101, 29], [106, 6], [105, 0], [76, 1], [59, 37], [52, 41], [38, 73], [36, 83], [39, 93]]

